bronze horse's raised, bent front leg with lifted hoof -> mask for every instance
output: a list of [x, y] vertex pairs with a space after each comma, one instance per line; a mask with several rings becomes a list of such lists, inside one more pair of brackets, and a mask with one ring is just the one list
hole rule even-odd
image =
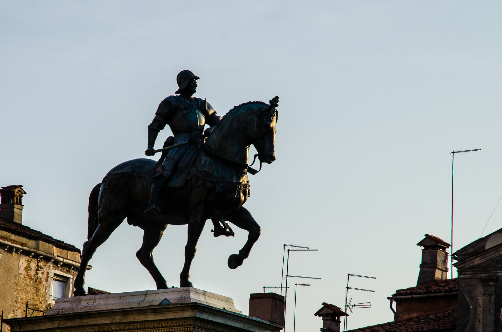
[[247, 209], [243, 206], [239, 207], [237, 210], [235, 210], [235, 212], [227, 215], [225, 217], [225, 220], [230, 221], [235, 226], [245, 229], [249, 232], [247, 241], [242, 249], [239, 250], [239, 253], [231, 254], [230, 257], [228, 257], [228, 267], [234, 269], [237, 268], [237, 266], [242, 265], [244, 259], [249, 256], [249, 252], [251, 251], [253, 244], [255, 244], [255, 242], [260, 237], [262, 228], [255, 221], [255, 218], [253, 218], [251, 213], [249, 213], [249, 211], [247, 211]]

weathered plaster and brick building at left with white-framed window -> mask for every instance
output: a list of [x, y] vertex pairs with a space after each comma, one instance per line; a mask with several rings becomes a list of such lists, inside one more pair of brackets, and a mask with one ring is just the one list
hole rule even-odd
[[[0, 193], [4, 196], [5, 190]], [[19, 209], [11, 205], [0, 204], [4, 212], [0, 216], [0, 311], [4, 319], [24, 317], [27, 301], [29, 308], [45, 311], [54, 305], [54, 295], [72, 296], [80, 266], [78, 248], [22, 225], [21, 219], [5, 218], [9, 214], [5, 210]], [[28, 310], [32, 314], [42, 312]], [[6, 324], [3, 328], [10, 330]]]

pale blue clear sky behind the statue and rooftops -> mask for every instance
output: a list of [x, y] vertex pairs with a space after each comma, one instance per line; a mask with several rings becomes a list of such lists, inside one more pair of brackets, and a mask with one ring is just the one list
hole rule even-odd
[[[281, 282], [282, 245], [310, 246], [319, 252], [290, 263], [292, 274], [322, 278], [299, 289], [299, 331], [321, 327], [322, 302], [344, 304], [348, 272], [377, 277], [354, 280], [375, 292], [352, 292], [371, 309], [356, 309], [349, 327], [392, 320], [387, 296], [416, 284], [416, 243], [425, 233], [450, 240], [449, 152], [483, 149], [456, 157], [455, 248], [479, 237], [502, 194], [501, 7], [2, 1], [0, 185], [24, 185], [26, 225], [81, 247], [90, 190], [116, 164], [145, 157], [147, 125], [179, 71], [201, 77], [196, 96], [220, 115], [279, 95], [277, 160], [250, 176], [245, 205], [262, 235], [230, 270], [247, 234], [233, 227], [235, 237], [215, 239], [207, 224], [191, 281], [247, 313], [249, 293]], [[499, 207], [484, 234], [501, 221]], [[168, 226], [154, 251], [169, 285], [179, 285], [185, 233]], [[124, 222], [86, 285], [155, 288], [135, 256], [141, 238]]]

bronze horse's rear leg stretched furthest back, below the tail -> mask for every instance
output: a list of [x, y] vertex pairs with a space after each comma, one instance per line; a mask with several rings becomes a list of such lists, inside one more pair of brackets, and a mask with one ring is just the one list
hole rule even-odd
[[[101, 216], [99, 216], [98, 218], [101, 219], [100, 217]], [[97, 247], [103, 244], [103, 242], [106, 241], [108, 237], [110, 237], [111, 233], [120, 225], [120, 223], [122, 223], [124, 218], [125, 216], [117, 217], [116, 215], [105, 218], [103, 222], [100, 222], [98, 224], [96, 230], [94, 231], [94, 234], [92, 234], [92, 237], [84, 242], [82, 255], [80, 257], [80, 267], [78, 269], [78, 274], [75, 278], [74, 283], [74, 296], [82, 296], [86, 294], [84, 289], [85, 268], [87, 267], [87, 264], [92, 258], [94, 252], [96, 252]]]

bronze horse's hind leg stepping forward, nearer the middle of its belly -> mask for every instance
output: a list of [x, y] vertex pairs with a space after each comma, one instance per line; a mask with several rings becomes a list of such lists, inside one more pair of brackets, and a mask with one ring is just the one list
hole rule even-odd
[[155, 265], [152, 251], [157, 244], [159, 244], [166, 227], [167, 225], [161, 225], [155, 222], [142, 224], [141, 228], [145, 231], [143, 235], [143, 245], [136, 253], [136, 257], [138, 257], [143, 266], [147, 268], [148, 272], [150, 272], [154, 278], [157, 289], [167, 288], [167, 282]]

